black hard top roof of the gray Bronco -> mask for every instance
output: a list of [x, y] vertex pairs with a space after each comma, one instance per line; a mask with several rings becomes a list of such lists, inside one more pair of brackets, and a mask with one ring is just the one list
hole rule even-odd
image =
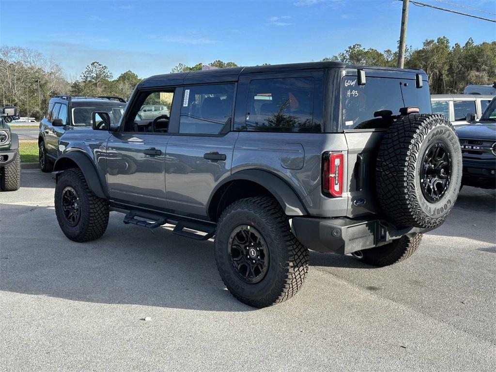
[[427, 76], [425, 72], [420, 69], [358, 66], [343, 62], [326, 61], [326, 62], [270, 64], [264, 66], [249, 66], [249, 67], [229, 67], [229, 68], [218, 68], [211, 70], [168, 73], [163, 75], [154, 75], [147, 79], [144, 79], [138, 84], [138, 86], [140, 88], [152, 88], [152, 87], [167, 86], [167, 85], [232, 82], [232, 81], [237, 81], [240, 75], [246, 75], [250, 73], [284, 72], [284, 71], [298, 71], [298, 70], [324, 69], [324, 68], [340, 68], [340, 69], [363, 68], [365, 70], [388, 71], [389, 75], [395, 72], [397, 74], [404, 74], [405, 72], [420, 73], [423, 75], [423, 78], [427, 80]]

